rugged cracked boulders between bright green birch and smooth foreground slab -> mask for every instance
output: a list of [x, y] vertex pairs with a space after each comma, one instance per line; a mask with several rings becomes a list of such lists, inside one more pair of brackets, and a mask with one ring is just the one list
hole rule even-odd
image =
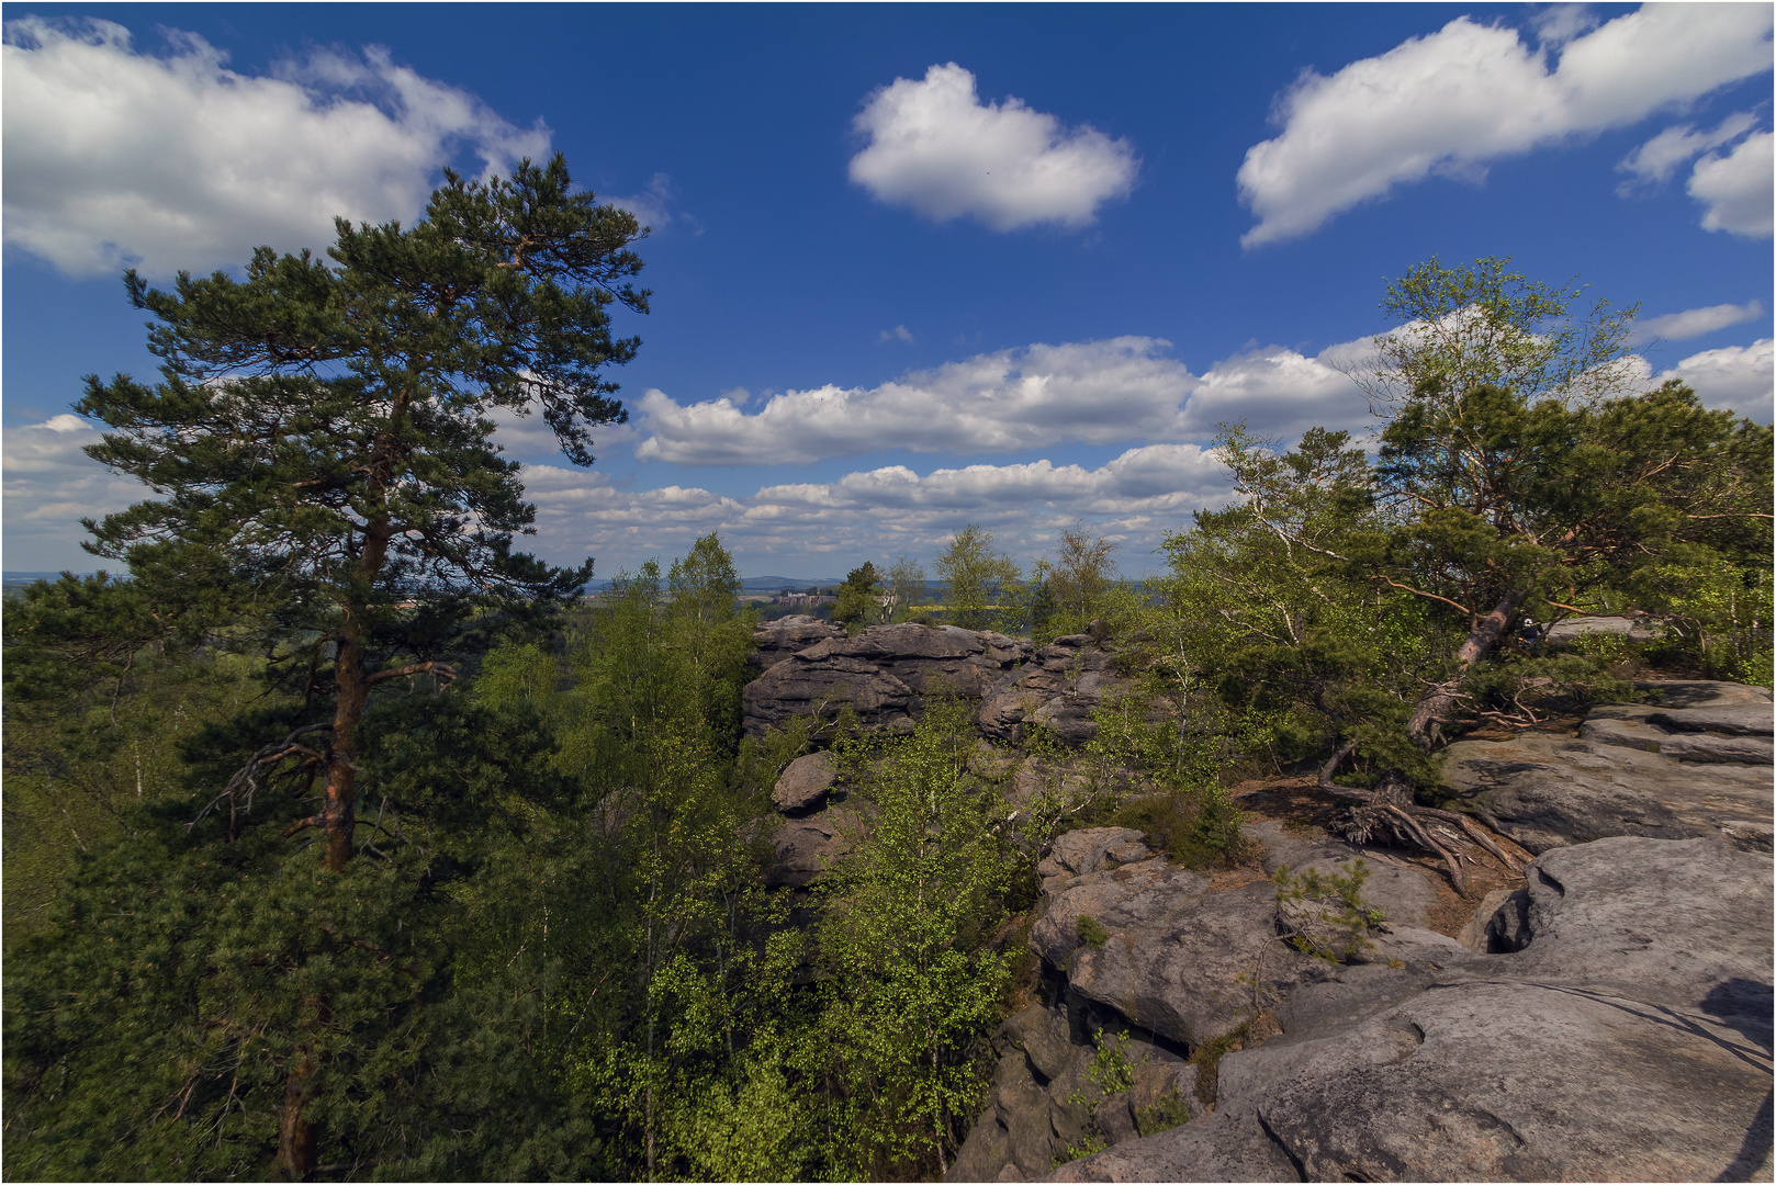
[[[1376, 966], [1362, 970], [1387, 970], [1401, 984], [1421, 986], [1430, 974], [1426, 959], [1467, 956], [1453, 940], [1423, 929], [1437, 897], [1423, 869], [1341, 840], [1296, 837], [1273, 823], [1249, 824], [1247, 837], [1266, 847], [1266, 872], [1280, 863], [1341, 872], [1355, 858], [1369, 862], [1366, 895], [1394, 924], [1366, 952]], [[1146, 1059], [1130, 1091], [1099, 1105], [1099, 1139], [1138, 1148], [1146, 1144], [1142, 1132], [1156, 1123], [1185, 1114], [1201, 1119], [1199, 1071], [1181, 1050], [1245, 1023], [1254, 986], [1272, 1000], [1327, 977], [1323, 963], [1280, 942], [1275, 885], [1257, 872], [1249, 883], [1215, 888], [1156, 858], [1142, 833], [1128, 828], [1067, 831], [1037, 871], [1048, 910], [1030, 933], [1030, 947], [1064, 977], [1064, 988], [1051, 1006], [1025, 1009], [996, 1036], [1002, 1057], [993, 1094], [950, 1180], [1030, 1180], [1048, 1173], [1069, 1144], [1083, 1144], [1090, 1116], [1067, 1100], [1074, 1091], [1090, 1096], [1080, 1075], [1094, 1055], [1090, 1032], [1099, 1027], [1133, 1034], [1130, 1061]], [[1082, 917], [1090, 924], [1082, 926]], [[1103, 943], [1094, 945], [1092, 936]], [[1206, 1153], [1197, 1180], [1288, 1173], [1288, 1158], [1256, 1119], [1241, 1121], [1238, 1132], [1252, 1137], [1250, 1146]]]

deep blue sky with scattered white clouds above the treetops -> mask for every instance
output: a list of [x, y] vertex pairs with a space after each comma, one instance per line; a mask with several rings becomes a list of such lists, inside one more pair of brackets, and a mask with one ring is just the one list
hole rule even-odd
[[1771, 418], [1771, 7], [27, 5], [4, 85], [9, 570], [94, 561], [80, 455], [153, 373], [117, 274], [412, 219], [446, 163], [567, 155], [654, 227], [630, 425], [501, 428], [529, 547], [602, 576], [1122, 569], [1224, 497], [1215, 423], [1368, 430], [1332, 362], [1385, 282], [1511, 256], [1641, 304], [1646, 382]]

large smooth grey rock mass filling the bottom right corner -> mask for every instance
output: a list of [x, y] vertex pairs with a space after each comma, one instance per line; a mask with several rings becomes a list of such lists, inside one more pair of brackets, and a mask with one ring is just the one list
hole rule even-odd
[[1522, 950], [1305, 984], [1211, 1117], [1053, 1180], [1769, 1180], [1771, 888], [1714, 839], [1552, 851]]

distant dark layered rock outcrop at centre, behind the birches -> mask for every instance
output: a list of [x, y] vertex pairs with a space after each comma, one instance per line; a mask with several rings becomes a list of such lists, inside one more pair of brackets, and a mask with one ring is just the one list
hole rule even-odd
[[[787, 647], [801, 636], [778, 631], [771, 643], [783, 638]], [[778, 659], [746, 684], [746, 734], [760, 736], [792, 716], [831, 720], [847, 704], [865, 727], [908, 730], [927, 691], [943, 686], [979, 700], [1034, 654], [1028, 641], [954, 625], [872, 625], [856, 638], [836, 631]]]

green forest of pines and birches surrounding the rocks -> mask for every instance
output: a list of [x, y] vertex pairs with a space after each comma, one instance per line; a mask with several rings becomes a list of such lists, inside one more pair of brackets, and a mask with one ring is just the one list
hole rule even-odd
[[[1353, 830], [1430, 842], [1435, 750], [1476, 721], [1620, 695], [1630, 661], [1771, 682], [1771, 430], [1625, 387], [1630, 313], [1431, 261], [1364, 378], [1378, 451], [1224, 425], [1234, 499], [1162, 579], [1117, 581], [1083, 524], [1032, 572], [959, 531], [941, 609], [913, 560], [849, 574], [852, 631], [1110, 645], [1131, 691], [1087, 744], [996, 750], [941, 689], [904, 736], [746, 736], [757, 622], [716, 535], [595, 602], [590, 561], [511, 549], [488, 412], [540, 407], [591, 462], [639, 235], [556, 160], [341, 222], [330, 261], [130, 275], [163, 380], [78, 407], [165, 497], [87, 524], [130, 579], [5, 615], [12, 1176], [934, 1178], [1044, 991], [1062, 831], [1224, 865], [1229, 780], [1307, 769]], [[1645, 654], [1536, 643], [1625, 611], [1664, 625]], [[785, 888], [771, 792], [815, 750], [856, 835]], [[1012, 808], [1037, 759], [1082, 773]]]

